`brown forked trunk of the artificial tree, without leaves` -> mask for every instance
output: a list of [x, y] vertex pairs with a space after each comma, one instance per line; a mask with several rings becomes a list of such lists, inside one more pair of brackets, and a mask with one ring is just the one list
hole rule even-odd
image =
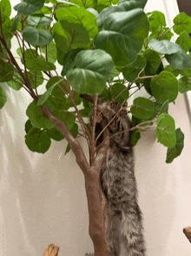
[[[106, 158], [109, 149], [109, 139], [102, 144], [99, 152], [97, 152], [94, 163], [90, 166], [82, 150], [82, 146], [78, 143], [76, 138], [72, 136], [64, 122], [56, 118], [47, 105], [41, 106], [41, 109], [43, 110], [44, 115], [49, 118], [52, 124], [56, 125], [56, 127], [63, 133], [64, 138], [69, 142], [71, 150], [76, 156], [76, 162], [84, 174], [85, 190], [89, 207], [89, 236], [94, 244], [95, 256], [109, 256], [106, 228], [108, 205], [107, 199], [102, 192], [100, 181], [102, 162], [104, 158]], [[105, 132], [104, 137], [109, 137], [107, 131]]]

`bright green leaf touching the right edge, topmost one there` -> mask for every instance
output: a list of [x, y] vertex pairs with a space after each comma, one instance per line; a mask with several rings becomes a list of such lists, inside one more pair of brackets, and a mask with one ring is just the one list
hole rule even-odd
[[181, 35], [183, 31], [187, 32], [187, 34], [191, 32], [191, 17], [188, 17], [186, 13], [179, 13], [173, 21], [175, 24], [173, 30], [176, 34]]

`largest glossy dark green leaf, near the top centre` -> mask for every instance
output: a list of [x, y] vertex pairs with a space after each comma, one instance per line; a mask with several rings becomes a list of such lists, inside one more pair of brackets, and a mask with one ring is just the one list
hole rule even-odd
[[127, 66], [142, 49], [148, 29], [148, 17], [142, 9], [111, 13], [95, 37], [95, 48], [107, 51], [116, 66]]

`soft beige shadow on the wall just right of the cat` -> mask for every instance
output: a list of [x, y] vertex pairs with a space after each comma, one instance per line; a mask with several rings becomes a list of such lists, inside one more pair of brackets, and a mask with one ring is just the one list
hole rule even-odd
[[167, 189], [169, 172], [165, 163], [166, 151], [156, 140], [155, 131], [146, 131], [135, 146], [135, 176], [147, 253], [161, 256], [166, 255], [175, 219], [175, 198]]

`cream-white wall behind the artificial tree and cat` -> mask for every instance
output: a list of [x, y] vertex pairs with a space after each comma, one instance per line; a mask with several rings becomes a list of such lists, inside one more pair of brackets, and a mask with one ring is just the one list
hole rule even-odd
[[[164, 1], [148, 0], [147, 11], [166, 11], [170, 21], [177, 6], [173, 0]], [[24, 123], [31, 99], [25, 91], [3, 88], [8, 102], [0, 111], [0, 255], [39, 256], [50, 243], [60, 246], [60, 256], [92, 251], [84, 179], [73, 153], [64, 157], [64, 141], [52, 142], [44, 155], [30, 152], [24, 143]], [[181, 157], [165, 164], [166, 150], [152, 131], [135, 146], [148, 256], [191, 253], [182, 232], [191, 226], [191, 135], [182, 95], [169, 113], [185, 133]]]

